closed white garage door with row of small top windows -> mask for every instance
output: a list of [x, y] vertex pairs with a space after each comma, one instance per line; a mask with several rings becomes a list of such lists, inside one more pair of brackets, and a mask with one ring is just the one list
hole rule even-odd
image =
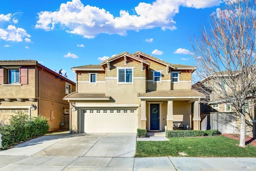
[[85, 133], [136, 133], [134, 109], [82, 109]]

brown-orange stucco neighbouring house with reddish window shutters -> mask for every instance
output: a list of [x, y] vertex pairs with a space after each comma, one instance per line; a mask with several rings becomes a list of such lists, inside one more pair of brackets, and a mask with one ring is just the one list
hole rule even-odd
[[[49, 118], [50, 130], [60, 129], [64, 115], [69, 114], [69, 103], [63, 97], [72, 91], [74, 82], [36, 60], [1, 60], [0, 123], [24, 112], [29, 117], [41, 114]], [[65, 122], [69, 128], [68, 119]]]

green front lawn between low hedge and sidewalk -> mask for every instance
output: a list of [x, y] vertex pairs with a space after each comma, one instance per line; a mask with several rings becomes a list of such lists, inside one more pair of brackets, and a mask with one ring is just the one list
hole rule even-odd
[[239, 141], [224, 136], [172, 137], [170, 141], [137, 141], [135, 157], [256, 157], [256, 147], [238, 147]]

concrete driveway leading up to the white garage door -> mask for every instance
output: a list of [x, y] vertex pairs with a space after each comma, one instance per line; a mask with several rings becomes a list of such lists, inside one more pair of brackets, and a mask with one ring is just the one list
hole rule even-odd
[[135, 133], [58, 133], [0, 151], [0, 155], [133, 157], [135, 149]]

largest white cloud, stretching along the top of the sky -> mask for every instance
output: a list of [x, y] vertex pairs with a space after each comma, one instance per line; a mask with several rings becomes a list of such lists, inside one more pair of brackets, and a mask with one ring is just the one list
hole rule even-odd
[[221, 0], [156, 0], [152, 4], [140, 2], [133, 14], [120, 10], [114, 16], [104, 8], [82, 4], [80, 0], [62, 3], [54, 12], [41, 11], [35, 28], [53, 30], [58, 24], [70, 34], [84, 38], [94, 38], [100, 33], [126, 35], [128, 30], [160, 27], [162, 30], [175, 30], [174, 16], [180, 6], [188, 8], [208, 8], [220, 5]]

